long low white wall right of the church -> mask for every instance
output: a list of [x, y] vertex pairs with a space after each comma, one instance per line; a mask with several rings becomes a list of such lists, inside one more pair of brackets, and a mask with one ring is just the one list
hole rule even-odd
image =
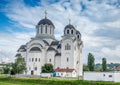
[[84, 72], [84, 80], [120, 82], [120, 72]]

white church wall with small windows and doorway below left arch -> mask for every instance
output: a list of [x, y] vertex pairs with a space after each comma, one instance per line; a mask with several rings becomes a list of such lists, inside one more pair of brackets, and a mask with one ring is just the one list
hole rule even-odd
[[42, 58], [41, 52], [28, 53], [28, 57], [27, 57], [28, 74], [31, 74], [32, 70], [34, 71], [34, 75], [40, 74], [41, 73], [41, 66], [43, 63], [44, 63], [44, 59]]

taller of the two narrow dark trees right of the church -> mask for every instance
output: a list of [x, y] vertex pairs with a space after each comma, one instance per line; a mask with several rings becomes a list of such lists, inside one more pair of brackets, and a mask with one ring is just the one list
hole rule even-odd
[[88, 69], [89, 71], [94, 71], [94, 56], [92, 55], [92, 53], [88, 54]]

